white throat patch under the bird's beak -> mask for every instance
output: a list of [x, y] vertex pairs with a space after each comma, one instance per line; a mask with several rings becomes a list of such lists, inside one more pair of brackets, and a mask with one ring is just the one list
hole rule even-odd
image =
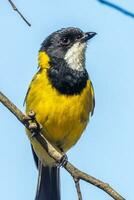
[[65, 60], [70, 68], [83, 71], [85, 67], [86, 43], [75, 43], [65, 54]]

